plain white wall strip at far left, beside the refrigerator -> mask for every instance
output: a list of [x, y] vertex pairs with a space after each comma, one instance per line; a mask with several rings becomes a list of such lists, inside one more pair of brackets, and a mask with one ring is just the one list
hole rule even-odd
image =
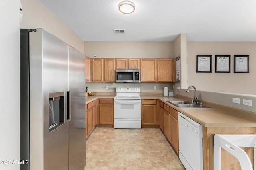
[[[0, 160], [20, 159], [20, 25], [19, 0], [0, 1]], [[19, 170], [0, 164], [1, 170]]]

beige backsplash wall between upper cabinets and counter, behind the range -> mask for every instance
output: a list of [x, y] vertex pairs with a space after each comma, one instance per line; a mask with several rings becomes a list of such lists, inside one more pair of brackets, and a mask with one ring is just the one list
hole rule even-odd
[[[116, 92], [117, 87], [139, 87], [142, 93], [164, 93], [164, 87], [168, 87], [169, 92], [173, 92], [172, 84], [174, 83], [112, 83], [112, 82], [86, 82], [88, 92]], [[108, 89], [106, 89], [108, 86]], [[156, 86], [156, 90], [154, 90]]]

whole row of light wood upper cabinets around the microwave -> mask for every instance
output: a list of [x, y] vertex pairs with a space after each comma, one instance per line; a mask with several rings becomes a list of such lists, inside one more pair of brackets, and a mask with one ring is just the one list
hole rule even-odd
[[116, 69], [139, 69], [141, 82], [175, 82], [175, 59], [90, 59], [86, 57], [87, 82], [114, 82]]

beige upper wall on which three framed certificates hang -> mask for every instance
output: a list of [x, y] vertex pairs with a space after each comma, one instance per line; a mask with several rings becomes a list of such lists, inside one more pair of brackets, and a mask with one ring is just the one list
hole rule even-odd
[[[212, 73], [196, 73], [196, 55], [212, 55]], [[215, 55], [231, 55], [230, 73], [215, 73]], [[234, 55], [249, 55], [250, 73], [233, 73]], [[198, 90], [256, 95], [256, 42], [188, 42], [187, 84]]]

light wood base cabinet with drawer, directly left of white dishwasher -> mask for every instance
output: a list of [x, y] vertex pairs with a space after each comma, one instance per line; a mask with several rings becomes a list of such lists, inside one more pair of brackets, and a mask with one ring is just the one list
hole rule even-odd
[[178, 111], [170, 107], [170, 143], [179, 153]]

